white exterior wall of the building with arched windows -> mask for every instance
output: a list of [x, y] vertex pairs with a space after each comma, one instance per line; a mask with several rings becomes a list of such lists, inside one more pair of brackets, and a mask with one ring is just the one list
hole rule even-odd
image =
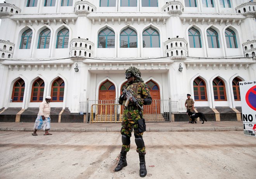
[[[21, 9], [18, 14], [0, 12], [0, 40], [15, 44], [13, 56], [0, 60], [0, 108], [8, 107], [38, 107], [39, 103], [30, 102], [33, 82], [42, 78], [45, 82], [44, 97], [50, 95], [52, 82], [61, 77], [65, 82], [64, 101], [52, 102], [52, 107], [69, 108], [71, 112], [79, 112], [79, 102], [99, 99], [99, 87], [106, 79], [116, 87], [116, 98], [120, 95], [121, 84], [125, 82], [124, 73], [130, 66], [135, 66], [142, 72], [145, 82], [152, 79], [160, 88], [160, 98], [178, 101], [178, 111], [184, 112], [186, 94], [194, 98], [193, 81], [196, 77], [204, 79], [207, 87], [208, 101], [196, 101], [195, 107], [239, 107], [240, 101], [234, 101], [232, 80], [239, 77], [242, 80], [256, 79], [256, 59], [244, 58], [242, 43], [256, 40], [255, 14], [237, 13], [236, 7], [246, 3], [245, 0], [232, 1], [231, 8], [221, 8], [219, 1], [214, 0], [214, 8], [202, 7], [197, 0], [197, 7], [185, 7], [183, 10], [166, 12], [163, 8], [166, 2], [158, 1], [158, 7], [142, 7], [138, 1], [137, 7], [99, 7], [99, 0], [80, 2], [73, 0], [73, 6], [61, 7], [61, 0], [56, 0], [54, 7], [43, 7], [44, 0], [38, 0], [36, 7], [26, 7], [26, 0], [6, 0]], [[120, 1], [117, 1], [120, 2]], [[86, 3], [85, 10], [78, 10], [78, 5]], [[177, 3], [177, 2], [172, 2]], [[87, 5], [90, 10], [87, 10]], [[82, 5], [81, 5], [82, 6]], [[242, 5], [243, 6], [243, 5]], [[245, 5], [246, 6], [246, 5]], [[255, 2], [254, 2], [254, 6]], [[1, 7], [1, 6], [0, 6]], [[179, 6], [180, 7], [180, 6]], [[247, 6], [246, 6], [247, 7]], [[252, 6], [253, 7], [253, 6]], [[240, 8], [240, 7], [239, 7]], [[243, 7], [241, 7], [243, 8]], [[93, 9], [93, 12], [92, 12]], [[252, 8], [251, 8], [252, 9]], [[252, 17], [254, 14], [254, 17]], [[64, 23], [65, 22], [65, 23]], [[130, 27], [137, 32], [137, 48], [120, 48], [120, 33]], [[159, 48], [143, 48], [142, 33], [152, 27], [159, 33]], [[202, 48], [189, 46], [188, 30], [194, 27], [201, 34]], [[32, 29], [33, 36], [30, 49], [19, 49], [21, 35], [27, 29]], [[39, 34], [45, 28], [50, 29], [50, 47], [38, 49]], [[68, 48], [57, 49], [57, 33], [69, 29]], [[98, 34], [104, 28], [115, 33], [115, 48], [97, 48]], [[220, 48], [209, 48], [207, 29], [217, 31]], [[238, 48], [227, 48], [225, 29], [232, 29], [237, 38]], [[178, 36], [178, 38], [176, 38]], [[80, 37], [80, 40], [78, 40]], [[186, 55], [175, 53], [173, 57], [166, 43], [181, 38], [187, 42], [183, 50]], [[88, 40], [86, 40], [88, 39]], [[87, 55], [79, 56], [80, 42], [88, 43]], [[165, 43], [166, 42], [166, 43]], [[74, 44], [78, 46], [75, 48]], [[169, 44], [169, 43], [168, 43]], [[91, 49], [89, 46], [91, 45]], [[4, 52], [0, 46], [0, 52]], [[256, 46], [254, 47], [256, 48]], [[174, 51], [181, 48], [172, 48]], [[84, 52], [84, 51], [83, 51]], [[91, 53], [91, 57], [88, 57]], [[0, 55], [1, 55], [0, 54]], [[149, 59], [159, 58], [160, 59]], [[230, 58], [233, 57], [233, 58]], [[74, 71], [78, 64], [79, 72]], [[183, 71], [178, 71], [179, 64]], [[225, 83], [227, 101], [214, 101], [212, 82], [220, 77]], [[10, 102], [12, 88], [17, 79], [25, 81], [24, 100], [21, 103]]]

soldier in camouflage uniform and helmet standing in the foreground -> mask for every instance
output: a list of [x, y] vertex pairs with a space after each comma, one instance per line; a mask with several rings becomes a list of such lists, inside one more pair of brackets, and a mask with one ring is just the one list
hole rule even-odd
[[[149, 88], [147, 84], [141, 79], [140, 71], [135, 67], [130, 67], [125, 71], [125, 77], [128, 81], [128, 86], [126, 90], [130, 90], [133, 93], [133, 96], [137, 98], [138, 104], [142, 105], [150, 105], [152, 103], [152, 98], [149, 93]], [[145, 144], [142, 138], [143, 132], [138, 132], [138, 124], [137, 121], [141, 119], [140, 117], [140, 108], [137, 107], [135, 103], [133, 103], [132, 99], [129, 99], [130, 102], [128, 106], [125, 107], [122, 119], [122, 148], [121, 148], [121, 156], [118, 162], [115, 171], [120, 171], [123, 167], [127, 166], [126, 162], [126, 153], [130, 150], [130, 137], [131, 132], [134, 129], [135, 143], [137, 145], [137, 152], [140, 158], [140, 176], [145, 177], [147, 175], [147, 169], [145, 164]], [[122, 94], [119, 97], [119, 104], [124, 105], [126, 102], [126, 95]]]

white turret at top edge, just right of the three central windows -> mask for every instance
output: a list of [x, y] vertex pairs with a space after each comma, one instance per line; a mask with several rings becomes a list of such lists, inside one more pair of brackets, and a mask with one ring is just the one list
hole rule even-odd
[[171, 15], [180, 15], [183, 12], [183, 4], [180, 1], [169, 1], [162, 7], [162, 10]]

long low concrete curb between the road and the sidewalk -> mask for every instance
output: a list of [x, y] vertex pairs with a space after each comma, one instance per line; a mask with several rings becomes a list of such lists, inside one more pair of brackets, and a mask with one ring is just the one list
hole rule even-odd
[[[149, 127], [147, 132], [243, 131], [243, 127]], [[0, 131], [34, 131], [33, 127], [1, 127]], [[119, 132], [120, 127], [52, 128], [56, 132]]]

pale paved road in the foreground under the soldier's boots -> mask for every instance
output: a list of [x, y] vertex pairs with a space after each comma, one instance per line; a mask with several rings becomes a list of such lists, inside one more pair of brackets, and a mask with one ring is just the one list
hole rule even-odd
[[[137, 179], [134, 137], [128, 166], [114, 172], [118, 132], [0, 131], [1, 179]], [[146, 179], [252, 179], [256, 137], [243, 131], [146, 132]]]

